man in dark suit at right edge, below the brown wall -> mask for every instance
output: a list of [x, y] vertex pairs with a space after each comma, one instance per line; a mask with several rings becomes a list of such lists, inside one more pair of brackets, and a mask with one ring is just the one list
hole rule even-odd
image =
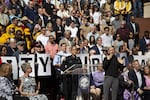
[[142, 39], [140, 39], [139, 44], [140, 44], [140, 50], [144, 54], [147, 51], [147, 45], [150, 43], [150, 33], [149, 31], [144, 32], [144, 36]]

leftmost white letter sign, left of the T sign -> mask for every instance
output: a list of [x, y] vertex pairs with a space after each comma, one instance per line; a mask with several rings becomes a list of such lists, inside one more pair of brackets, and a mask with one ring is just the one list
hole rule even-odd
[[2, 59], [2, 62], [9, 63], [12, 65], [13, 79], [18, 80], [18, 64], [17, 64], [16, 57], [2, 56], [1, 59]]

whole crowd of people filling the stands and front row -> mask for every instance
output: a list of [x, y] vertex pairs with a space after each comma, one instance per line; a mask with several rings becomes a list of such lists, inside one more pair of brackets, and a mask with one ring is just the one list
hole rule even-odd
[[84, 100], [150, 100], [150, 60], [141, 67], [133, 57], [150, 55], [150, 32], [140, 33], [137, 17], [143, 0], [0, 0], [0, 57], [46, 53], [52, 67], [51, 76], [33, 78], [24, 63], [24, 75], [13, 80], [13, 65], [1, 61], [0, 98], [76, 100], [77, 77], [60, 73], [82, 64], [77, 54], [89, 54], [103, 63], [91, 72], [92, 96]]

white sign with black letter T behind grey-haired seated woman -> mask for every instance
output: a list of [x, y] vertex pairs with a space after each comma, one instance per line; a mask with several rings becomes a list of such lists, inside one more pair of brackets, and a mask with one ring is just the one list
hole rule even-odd
[[25, 62], [30, 63], [31, 67], [32, 67], [32, 73], [30, 73], [30, 76], [35, 77], [35, 56], [34, 54], [20, 54], [19, 55], [19, 77], [21, 77], [24, 72], [21, 69], [21, 65]]

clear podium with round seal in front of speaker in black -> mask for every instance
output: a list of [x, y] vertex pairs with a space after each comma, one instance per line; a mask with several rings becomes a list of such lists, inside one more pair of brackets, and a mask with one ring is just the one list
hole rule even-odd
[[[75, 64], [62, 74], [65, 100], [91, 100], [92, 73], [98, 65]], [[95, 70], [96, 71], [96, 70]]]

